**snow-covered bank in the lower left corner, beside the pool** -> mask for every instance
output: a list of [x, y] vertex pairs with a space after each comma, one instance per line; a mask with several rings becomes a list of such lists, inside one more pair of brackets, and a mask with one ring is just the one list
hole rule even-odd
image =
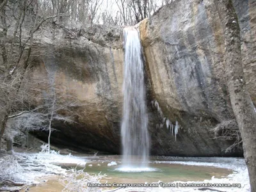
[[[86, 160], [71, 155], [63, 156], [58, 152], [52, 151], [51, 154], [40, 152], [37, 154], [15, 153], [13, 155], [3, 154], [0, 157], [0, 181], [11, 180], [19, 182], [24, 186], [38, 184], [39, 177], [48, 175], [67, 175], [67, 170], [58, 166], [58, 164], [74, 164], [74, 166], [85, 166]], [[7, 188], [6, 188], [7, 187]], [[0, 186], [0, 189], [19, 191], [21, 188]]]

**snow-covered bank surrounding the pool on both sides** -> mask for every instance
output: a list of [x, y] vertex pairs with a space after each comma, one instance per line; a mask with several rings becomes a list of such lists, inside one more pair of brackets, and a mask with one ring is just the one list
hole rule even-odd
[[[113, 161], [113, 157], [115, 158], [115, 162], [118, 164], [120, 161], [120, 157], [117, 156], [104, 156], [99, 157], [97, 160], [93, 160], [93, 157], [76, 157], [76, 156], [63, 156], [58, 154], [57, 152], [52, 152], [51, 154], [40, 153], [40, 154], [26, 154], [26, 153], [16, 153], [15, 156], [6, 156], [6, 159], [0, 158], [0, 163], [9, 163], [8, 168], [4, 170], [6, 174], [9, 174], [9, 179], [13, 179], [15, 181], [20, 182], [35, 182], [38, 180], [38, 177], [46, 177], [47, 175], [60, 175], [60, 177], [64, 178], [65, 183], [68, 183], [66, 188], [74, 188], [74, 186], [81, 187], [83, 190], [87, 190], [87, 183], [84, 182], [92, 182], [96, 183], [102, 178], [101, 175], [97, 175], [96, 177], [88, 175], [88, 173], [84, 173], [83, 170], [78, 170], [74, 172], [74, 170], [67, 171], [61, 168], [60, 164], [72, 164], [72, 166], [87, 166], [89, 162], [97, 161], [97, 163], [111, 163]], [[14, 158], [14, 159], [10, 159]], [[186, 164], [192, 166], [214, 166], [217, 168], [228, 168], [233, 170], [234, 172], [227, 177], [223, 177], [221, 179], [216, 179], [212, 177], [212, 179], [204, 180], [204, 181], [175, 181], [170, 184], [174, 184], [175, 187], [166, 187], [166, 188], [122, 188], [118, 189], [118, 191], [200, 191], [198, 189], [202, 188], [202, 186], [196, 186], [193, 188], [188, 187], [180, 187], [182, 184], [241, 184], [241, 188], [232, 187], [232, 188], [214, 188], [209, 187], [211, 189], [218, 189], [220, 191], [250, 191], [250, 184], [248, 178], [248, 170], [246, 168], [246, 164], [244, 163], [243, 158], [223, 158], [223, 157], [155, 157], [156, 160], [151, 161], [150, 163], [163, 163], [163, 164]], [[90, 160], [89, 160], [90, 159]], [[104, 161], [102, 161], [104, 159]], [[113, 161], [114, 162], [114, 161]], [[95, 162], [95, 164], [97, 164]], [[113, 163], [112, 163], [113, 164]], [[99, 166], [99, 164], [97, 164]], [[148, 173], [150, 174], [150, 173]], [[1, 174], [2, 175], [2, 174]], [[85, 175], [83, 180], [77, 181], [74, 175]], [[37, 179], [36, 179], [37, 178]], [[72, 179], [73, 178], [73, 179]], [[39, 179], [39, 181], [42, 179]], [[67, 182], [69, 180], [70, 182]], [[158, 183], [160, 183], [159, 181]], [[176, 186], [178, 184], [178, 187]], [[92, 189], [92, 188], [91, 188]], [[94, 188], [96, 189], [96, 188]], [[100, 188], [97, 188], [98, 190]], [[101, 188], [102, 191], [107, 190], [109, 188]], [[66, 190], [68, 191], [68, 190]], [[208, 190], [209, 191], [209, 190]]]

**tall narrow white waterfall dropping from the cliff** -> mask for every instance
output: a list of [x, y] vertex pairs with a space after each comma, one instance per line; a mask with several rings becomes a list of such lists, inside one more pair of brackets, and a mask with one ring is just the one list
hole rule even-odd
[[148, 116], [140, 34], [135, 28], [124, 29], [124, 106], [122, 118], [123, 168], [148, 165]]

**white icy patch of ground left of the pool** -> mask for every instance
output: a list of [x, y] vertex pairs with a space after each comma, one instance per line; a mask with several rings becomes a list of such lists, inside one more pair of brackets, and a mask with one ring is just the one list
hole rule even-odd
[[[20, 182], [34, 182], [36, 177], [50, 174], [65, 174], [66, 170], [57, 164], [77, 164], [85, 166], [86, 161], [80, 157], [71, 155], [63, 156], [58, 153], [26, 154], [15, 153], [10, 159], [10, 165], [5, 169], [6, 175], [10, 174], [10, 179]], [[3, 159], [3, 161], [8, 161]]]

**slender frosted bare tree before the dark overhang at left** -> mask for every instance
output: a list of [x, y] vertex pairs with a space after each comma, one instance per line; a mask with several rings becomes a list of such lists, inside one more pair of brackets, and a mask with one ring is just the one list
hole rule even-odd
[[[10, 140], [8, 151], [12, 150], [13, 138], [19, 134], [19, 132], [27, 134], [28, 136], [28, 132], [49, 131], [47, 148], [48, 152], [50, 152], [51, 132], [56, 131], [56, 129], [52, 129], [52, 122], [58, 120], [68, 124], [76, 123], [73, 120], [73, 116], [77, 114], [72, 111], [72, 108], [81, 106], [81, 104], [79, 104], [74, 97], [61, 94], [61, 90], [58, 90], [55, 87], [56, 84], [54, 83], [53, 70], [48, 71], [49, 79], [42, 79], [42, 81], [40, 81], [40, 84], [44, 84], [44, 86], [42, 86], [44, 89], [40, 89], [40, 92], [42, 93], [41, 97], [39, 95], [37, 97], [41, 100], [41, 104], [36, 108], [28, 108], [26, 111], [20, 111], [8, 117], [6, 125], [8, 129], [6, 129], [5, 132], [6, 140]], [[36, 83], [38, 82], [39, 81], [36, 81]], [[38, 91], [38, 88], [35, 88], [33, 83], [26, 86], [29, 87], [28, 90], [26, 90], [26, 93], [33, 93], [35, 90]], [[31, 105], [33, 105], [33, 95], [29, 96], [30, 97], [26, 98], [26, 100], [27, 102], [31, 101]], [[64, 100], [68, 101], [63, 102]], [[65, 111], [65, 115], [61, 115], [63, 111]]]

